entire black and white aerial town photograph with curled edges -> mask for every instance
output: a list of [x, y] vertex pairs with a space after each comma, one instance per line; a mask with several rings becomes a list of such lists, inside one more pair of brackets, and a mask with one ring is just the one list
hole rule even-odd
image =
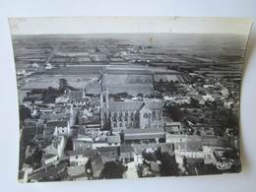
[[239, 173], [252, 20], [9, 19], [21, 183]]

